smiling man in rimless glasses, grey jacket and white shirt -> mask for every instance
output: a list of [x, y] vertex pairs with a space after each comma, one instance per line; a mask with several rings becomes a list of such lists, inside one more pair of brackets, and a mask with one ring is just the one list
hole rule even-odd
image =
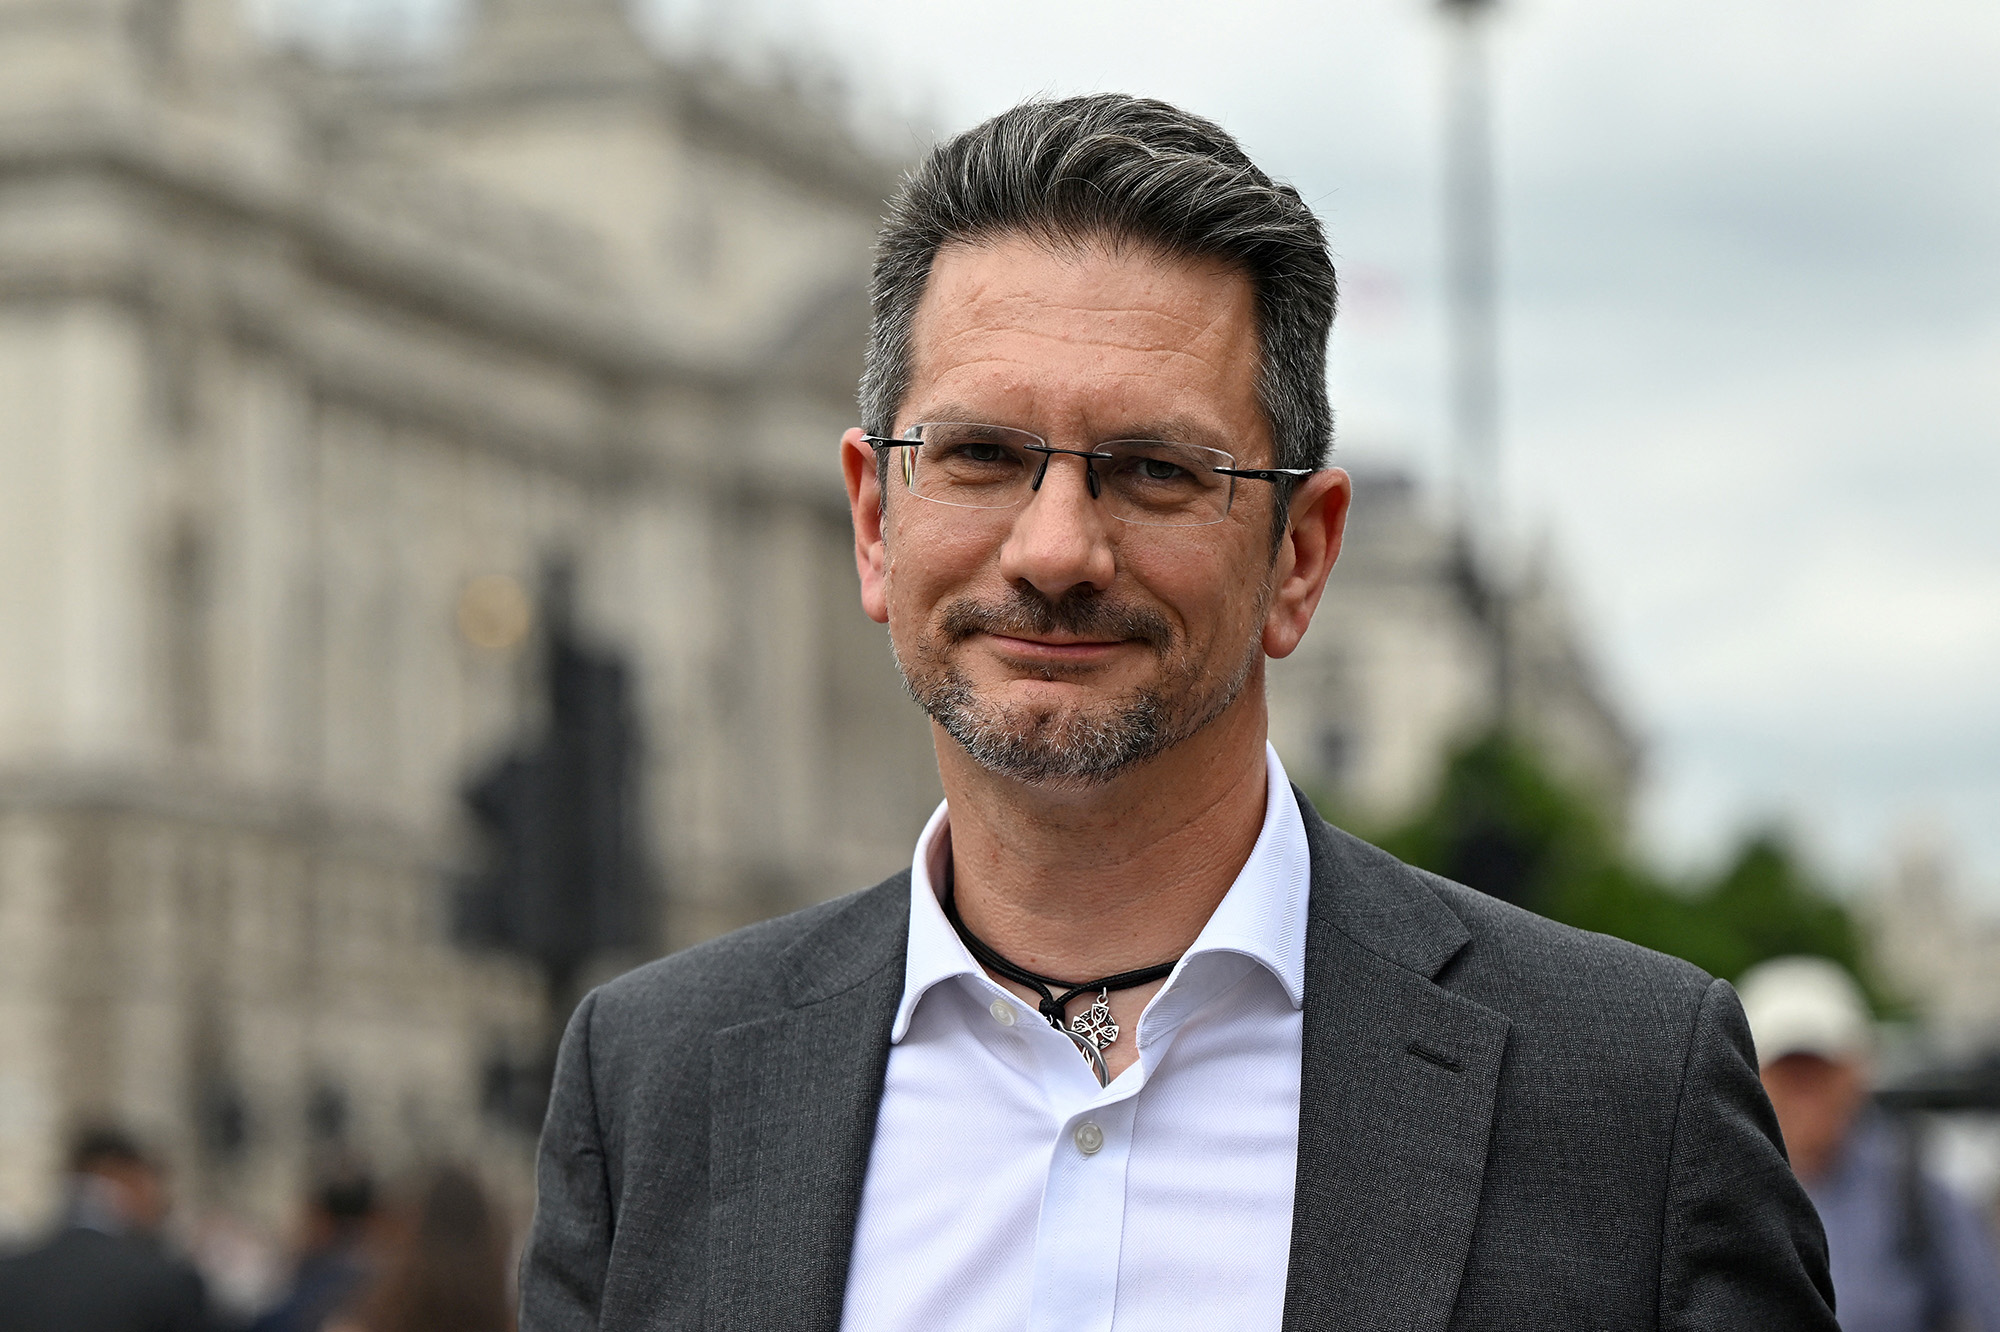
[[522, 1328], [1832, 1328], [1728, 986], [1330, 828], [1264, 658], [1340, 550], [1318, 220], [1160, 102], [882, 232], [842, 440], [910, 870], [604, 986]]

